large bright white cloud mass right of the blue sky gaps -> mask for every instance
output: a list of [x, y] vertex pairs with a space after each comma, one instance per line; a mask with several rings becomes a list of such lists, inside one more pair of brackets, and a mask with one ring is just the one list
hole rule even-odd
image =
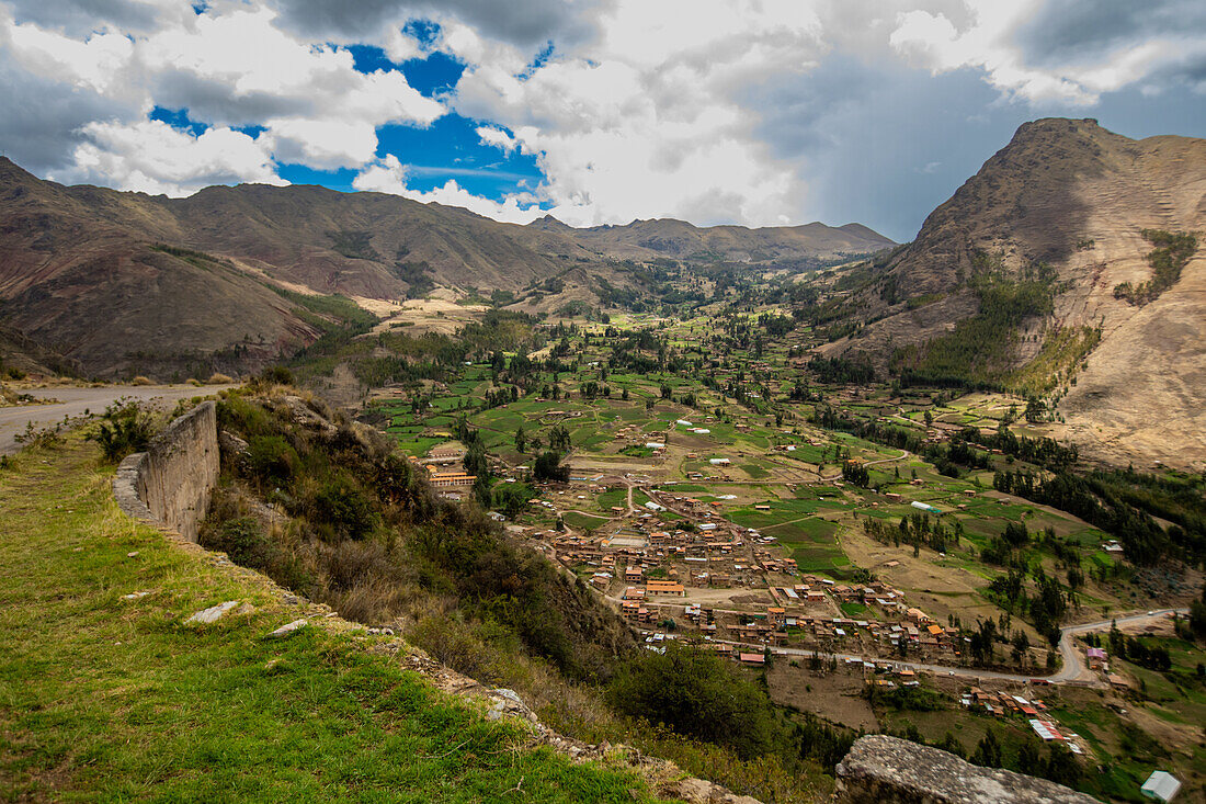
[[548, 181], [539, 192], [574, 225], [690, 216], [780, 223], [804, 196], [796, 165], [755, 135], [743, 87], [800, 75], [820, 57], [803, 4], [617, 0], [598, 35], [522, 71], [515, 48], [453, 28], [444, 47], [469, 62], [455, 104], [497, 121]]

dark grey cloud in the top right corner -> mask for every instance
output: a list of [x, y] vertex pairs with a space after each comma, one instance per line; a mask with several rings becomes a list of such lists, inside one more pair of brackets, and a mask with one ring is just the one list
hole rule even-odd
[[1206, 36], [1201, 0], [1055, 0], [1015, 34], [1029, 64], [1096, 59], [1155, 36]]

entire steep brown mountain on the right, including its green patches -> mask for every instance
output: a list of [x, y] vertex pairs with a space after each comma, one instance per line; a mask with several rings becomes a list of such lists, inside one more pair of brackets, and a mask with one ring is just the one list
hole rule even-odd
[[1035, 394], [1090, 454], [1200, 468], [1204, 229], [1206, 140], [1026, 123], [853, 291], [867, 324], [826, 351]]

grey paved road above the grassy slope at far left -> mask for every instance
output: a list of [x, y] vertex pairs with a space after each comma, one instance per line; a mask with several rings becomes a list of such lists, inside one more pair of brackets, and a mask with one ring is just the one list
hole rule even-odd
[[14, 436], [25, 432], [29, 423], [35, 427], [63, 421], [64, 416], [76, 418], [88, 413], [104, 413], [112, 402], [128, 397], [157, 406], [174, 404], [177, 400], [213, 394], [229, 385], [106, 385], [104, 388], [46, 388], [21, 391], [40, 400], [59, 400], [53, 404], [23, 404], [0, 408], [0, 455], [10, 455], [21, 449]]

